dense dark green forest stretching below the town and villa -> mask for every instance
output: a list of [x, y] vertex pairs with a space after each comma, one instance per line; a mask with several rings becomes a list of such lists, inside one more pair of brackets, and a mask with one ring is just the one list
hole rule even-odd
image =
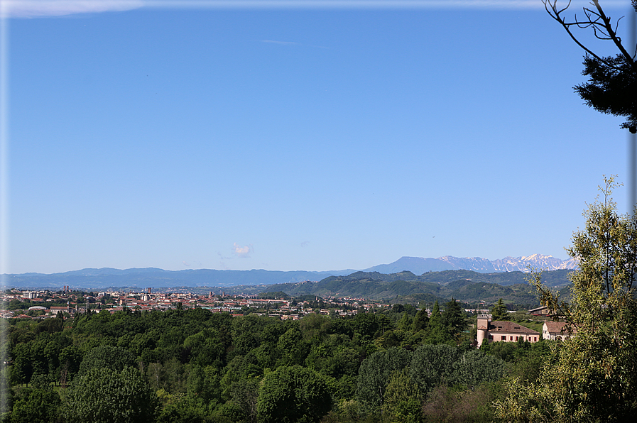
[[[537, 344], [478, 350], [455, 301], [299, 320], [206, 309], [9, 319], [5, 422], [491, 422]], [[441, 310], [442, 308], [442, 310]], [[444, 414], [444, 415], [443, 415]]]

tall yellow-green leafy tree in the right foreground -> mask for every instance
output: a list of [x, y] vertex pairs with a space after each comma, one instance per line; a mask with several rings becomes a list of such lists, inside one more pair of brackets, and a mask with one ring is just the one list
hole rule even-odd
[[572, 301], [563, 302], [541, 275], [531, 282], [540, 300], [565, 316], [569, 339], [552, 345], [538, 382], [514, 380], [499, 402], [502, 417], [552, 422], [626, 422], [637, 412], [637, 217], [618, 214], [606, 178], [601, 198], [584, 212], [586, 227], [573, 234], [569, 255]]

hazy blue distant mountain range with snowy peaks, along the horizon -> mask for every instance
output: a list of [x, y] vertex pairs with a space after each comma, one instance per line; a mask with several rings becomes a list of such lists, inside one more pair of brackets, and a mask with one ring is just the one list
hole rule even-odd
[[323, 280], [329, 276], [344, 276], [356, 271], [379, 272], [384, 274], [409, 271], [415, 275], [442, 270], [473, 270], [479, 273], [501, 273], [528, 271], [528, 266], [538, 270], [562, 270], [577, 268], [571, 260], [562, 261], [552, 256], [533, 254], [527, 257], [506, 257], [501, 260], [468, 257], [440, 258], [402, 257], [393, 263], [376, 265], [364, 270], [332, 270], [310, 272], [305, 270], [283, 272], [280, 270], [162, 270], [158, 268], [132, 269], [82, 269], [64, 273], [21, 273], [6, 275], [7, 287], [71, 288], [99, 289], [107, 287], [229, 287], [236, 285], [275, 285], [302, 282], [304, 280]]

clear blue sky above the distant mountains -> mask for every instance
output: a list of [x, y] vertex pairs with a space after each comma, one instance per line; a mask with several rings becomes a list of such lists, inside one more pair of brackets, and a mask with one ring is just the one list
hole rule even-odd
[[5, 9], [4, 273], [567, 258], [627, 182], [582, 50], [540, 0], [388, 3]]

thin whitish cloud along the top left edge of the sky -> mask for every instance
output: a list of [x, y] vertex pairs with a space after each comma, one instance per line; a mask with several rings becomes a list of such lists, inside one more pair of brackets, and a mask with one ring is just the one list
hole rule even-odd
[[143, 0], [3, 0], [1, 15], [11, 18], [40, 18], [128, 11], [143, 6]]

